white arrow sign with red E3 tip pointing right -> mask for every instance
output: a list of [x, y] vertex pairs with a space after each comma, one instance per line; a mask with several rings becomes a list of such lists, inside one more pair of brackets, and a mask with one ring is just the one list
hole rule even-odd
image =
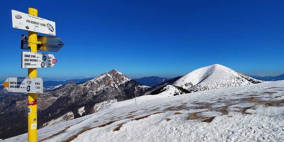
[[22, 68], [52, 68], [56, 62], [52, 54], [22, 51]]

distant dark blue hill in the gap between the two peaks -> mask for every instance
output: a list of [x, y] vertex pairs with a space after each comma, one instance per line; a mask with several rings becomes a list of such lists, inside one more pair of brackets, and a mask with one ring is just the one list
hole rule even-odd
[[163, 83], [165, 81], [167, 81], [168, 79], [166, 78], [160, 78], [160, 77], [157, 77], [157, 76], [150, 76], [150, 77], [143, 77], [143, 78], [136, 78], [136, 79], [133, 79], [137, 82], [140, 82], [146, 86], [155, 86], [155, 85], [158, 85], [160, 83]]

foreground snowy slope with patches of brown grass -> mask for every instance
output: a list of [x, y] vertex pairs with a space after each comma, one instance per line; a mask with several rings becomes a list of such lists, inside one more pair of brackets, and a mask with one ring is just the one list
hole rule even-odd
[[[38, 141], [284, 141], [284, 81], [165, 92], [39, 129]], [[3, 141], [27, 141], [27, 134]]]

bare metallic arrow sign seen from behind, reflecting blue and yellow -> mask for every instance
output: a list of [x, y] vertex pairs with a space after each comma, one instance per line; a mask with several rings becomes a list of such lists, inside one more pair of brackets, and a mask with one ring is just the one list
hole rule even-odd
[[[55, 36], [37, 36], [37, 40], [41, 42], [37, 45], [37, 50], [40, 51], [57, 52], [65, 45]], [[28, 35], [22, 35], [21, 49], [28, 49]]]

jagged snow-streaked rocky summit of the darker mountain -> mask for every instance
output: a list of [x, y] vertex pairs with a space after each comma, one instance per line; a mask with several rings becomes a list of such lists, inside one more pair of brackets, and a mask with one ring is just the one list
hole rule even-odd
[[89, 91], [99, 91], [105, 89], [107, 86], [118, 87], [122, 83], [126, 83], [131, 79], [126, 75], [118, 72], [117, 70], [111, 70], [108, 73], [100, 74], [100, 76], [89, 80], [83, 84], [81, 87], [88, 89]]

